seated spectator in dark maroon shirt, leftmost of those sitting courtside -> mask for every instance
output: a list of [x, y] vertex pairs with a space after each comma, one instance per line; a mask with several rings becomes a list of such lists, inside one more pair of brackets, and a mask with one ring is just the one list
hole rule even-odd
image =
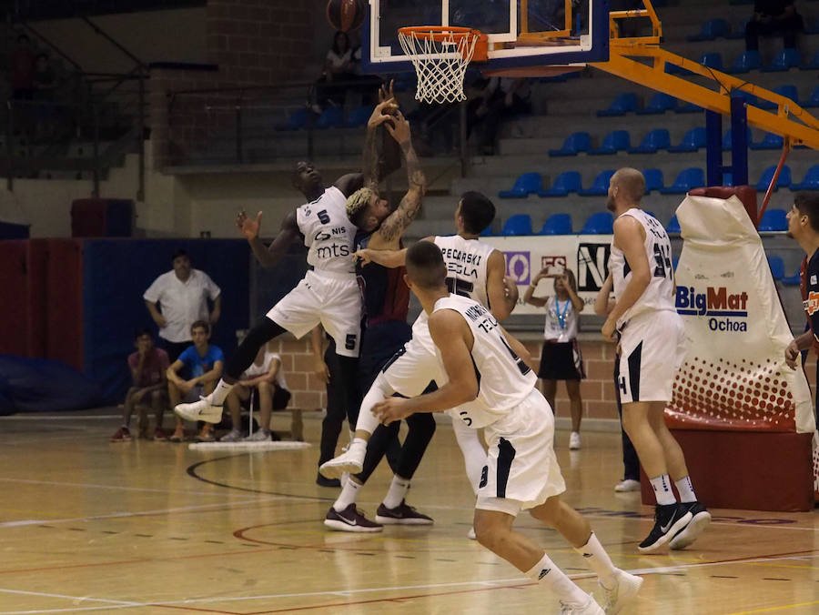
[[131, 379], [134, 386], [128, 389], [125, 408], [122, 413], [122, 427], [111, 436], [112, 442], [127, 442], [131, 439], [128, 430], [131, 423], [131, 414], [134, 408], [139, 408], [139, 436], [147, 438], [147, 419], [143, 412], [150, 400], [150, 406], [157, 418], [154, 428], [155, 440], [167, 440], [167, 434], [162, 429], [162, 415], [167, 406], [167, 379], [168, 368], [167, 352], [154, 347], [154, 338], [148, 328], [136, 331], [134, 338], [136, 352], [128, 357], [128, 368], [131, 369]]

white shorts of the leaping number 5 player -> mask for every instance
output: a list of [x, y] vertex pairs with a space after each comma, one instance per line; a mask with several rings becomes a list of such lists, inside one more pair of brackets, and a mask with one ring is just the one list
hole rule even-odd
[[353, 275], [324, 271], [307, 275], [268, 312], [268, 318], [302, 338], [321, 326], [336, 342], [344, 357], [359, 356], [361, 339], [361, 291]]

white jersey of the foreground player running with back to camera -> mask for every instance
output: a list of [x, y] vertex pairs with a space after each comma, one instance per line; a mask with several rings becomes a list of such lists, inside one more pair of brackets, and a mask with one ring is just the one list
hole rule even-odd
[[[529, 397], [537, 376], [510, 348], [498, 321], [486, 307], [468, 297], [450, 295], [440, 298], [432, 312], [441, 309], [460, 313], [474, 338], [471, 355], [478, 378], [478, 398], [458, 408], [460, 418], [471, 428], [486, 427]], [[441, 362], [440, 352], [436, 353]], [[446, 373], [442, 367], [441, 372]]]

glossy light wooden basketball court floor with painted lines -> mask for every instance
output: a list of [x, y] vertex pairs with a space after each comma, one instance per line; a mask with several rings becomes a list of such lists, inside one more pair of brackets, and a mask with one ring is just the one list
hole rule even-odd
[[[210, 452], [112, 444], [113, 408], [0, 418], [2, 613], [556, 613], [557, 601], [467, 538], [472, 494], [449, 425], [439, 426], [409, 501], [430, 528], [328, 531], [335, 489], [315, 484], [309, 449]], [[286, 417], [276, 418], [287, 423]], [[643, 556], [652, 509], [615, 494], [619, 435], [558, 432], [566, 499], [591, 519], [614, 562], [643, 575], [632, 613], [819, 613], [819, 513], [713, 510], [684, 551]], [[389, 484], [361, 494], [373, 515]], [[528, 516], [517, 527], [587, 591], [581, 558]], [[599, 593], [599, 592], [598, 592]]]

